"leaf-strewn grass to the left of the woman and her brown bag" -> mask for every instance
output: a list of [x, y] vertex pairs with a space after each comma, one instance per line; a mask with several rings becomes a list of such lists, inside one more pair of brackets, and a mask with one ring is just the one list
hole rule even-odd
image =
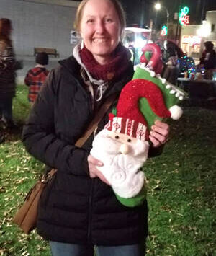
[[[19, 125], [24, 123], [29, 110], [27, 87], [19, 85], [13, 106], [14, 119]], [[13, 134], [6, 133], [4, 143], [0, 144], [0, 255], [50, 255], [47, 242], [35, 231], [27, 236], [12, 224], [12, 216], [27, 191], [40, 177], [43, 167], [25, 151], [20, 141], [20, 131], [21, 129]]]

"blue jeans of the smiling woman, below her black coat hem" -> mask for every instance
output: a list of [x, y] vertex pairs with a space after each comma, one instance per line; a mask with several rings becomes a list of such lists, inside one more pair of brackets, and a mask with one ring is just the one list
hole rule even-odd
[[[50, 241], [53, 256], [93, 256], [94, 246], [65, 244]], [[96, 256], [143, 256], [140, 244], [122, 246], [96, 246]]]

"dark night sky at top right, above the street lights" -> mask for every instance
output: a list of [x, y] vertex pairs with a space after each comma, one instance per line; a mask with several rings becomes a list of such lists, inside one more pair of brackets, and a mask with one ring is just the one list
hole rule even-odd
[[[78, 0], [81, 1], [81, 0]], [[154, 27], [161, 27], [166, 23], [166, 10], [156, 11], [153, 6], [157, 1], [153, 0], [120, 0], [127, 14], [127, 26], [137, 24], [149, 26], [150, 19]], [[190, 24], [202, 24], [205, 12], [216, 10], [216, 0], [161, 0], [170, 14], [170, 22], [174, 19], [174, 12], [179, 12], [184, 6], [189, 7]]]

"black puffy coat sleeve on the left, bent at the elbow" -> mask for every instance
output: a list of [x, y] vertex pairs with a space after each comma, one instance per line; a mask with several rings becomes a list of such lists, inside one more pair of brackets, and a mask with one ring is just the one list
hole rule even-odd
[[22, 141], [27, 151], [50, 167], [73, 175], [89, 175], [87, 157], [89, 153], [55, 133], [55, 70], [50, 71], [32, 107], [22, 132]]

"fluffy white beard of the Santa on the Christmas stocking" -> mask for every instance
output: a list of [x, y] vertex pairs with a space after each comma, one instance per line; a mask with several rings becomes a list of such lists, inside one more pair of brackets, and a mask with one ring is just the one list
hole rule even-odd
[[[115, 135], [120, 139], [116, 139]], [[139, 169], [148, 158], [149, 143], [131, 138], [132, 142], [127, 143], [128, 154], [122, 154], [120, 146], [125, 144], [123, 137], [126, 136], [107, 129], [100, 131], [94, 138], [91, 155], [103, 162], [104, 165], [97, 168], [114, 192], [122, 198], [132, 198], [138, 195], [145, 182], [144, 172]]]

